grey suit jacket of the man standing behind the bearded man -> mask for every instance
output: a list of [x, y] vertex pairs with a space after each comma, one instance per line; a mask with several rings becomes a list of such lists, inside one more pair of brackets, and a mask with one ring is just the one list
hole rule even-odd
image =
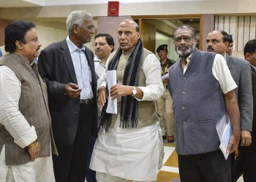
[[238, 87], [234, 90], [240, 110], [241, 130], [252, 131], [252, 72], [249, 63], [226, 55], [227, 66]]

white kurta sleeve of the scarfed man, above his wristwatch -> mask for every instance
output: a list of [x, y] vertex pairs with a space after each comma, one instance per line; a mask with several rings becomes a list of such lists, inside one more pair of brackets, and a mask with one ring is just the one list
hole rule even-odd
[[[160, 61], [154, 54], [148, 55], [143, 63], [143, 73], [146, 77], [146, 87], [139, 87], [143, 92], [141, 100], [157, 100], [164, 93]], [[138, 99], [139, 100], [139, 99]]]

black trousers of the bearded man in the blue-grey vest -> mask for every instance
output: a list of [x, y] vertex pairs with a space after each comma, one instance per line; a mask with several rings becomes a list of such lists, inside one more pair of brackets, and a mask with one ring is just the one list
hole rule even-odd
[[204, 154], [178, 155], [181, 182], [230, 182], [230, 159], [222, 151]]

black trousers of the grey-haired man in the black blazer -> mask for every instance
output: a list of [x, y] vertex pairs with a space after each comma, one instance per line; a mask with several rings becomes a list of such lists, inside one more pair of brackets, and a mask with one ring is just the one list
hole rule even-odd
[[72, 146], [57, 146], [59, 157], [53, 156], [56, 182], [84, 182], [93, 122], [93, 106], [80, 104], [78, 130]]

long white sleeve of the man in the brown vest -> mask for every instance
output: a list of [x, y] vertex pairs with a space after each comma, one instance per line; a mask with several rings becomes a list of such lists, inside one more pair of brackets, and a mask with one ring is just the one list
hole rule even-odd
[[0, 123], [10, 132], [14, 142], [25, 148], [37, 139], [37, 133], [19, 111], [20, 86], [15, 73], [7, 66], [0, 66]]

